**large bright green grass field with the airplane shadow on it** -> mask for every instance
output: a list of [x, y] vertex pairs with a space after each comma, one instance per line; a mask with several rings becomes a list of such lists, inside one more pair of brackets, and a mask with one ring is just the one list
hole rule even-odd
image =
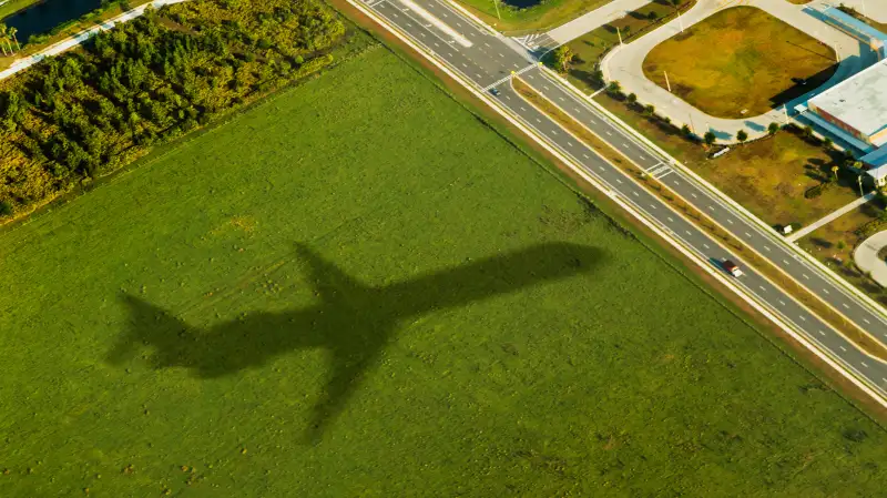
[[881, 492], [672, 264], [368, 51], [0, 237], [0, 496]]

